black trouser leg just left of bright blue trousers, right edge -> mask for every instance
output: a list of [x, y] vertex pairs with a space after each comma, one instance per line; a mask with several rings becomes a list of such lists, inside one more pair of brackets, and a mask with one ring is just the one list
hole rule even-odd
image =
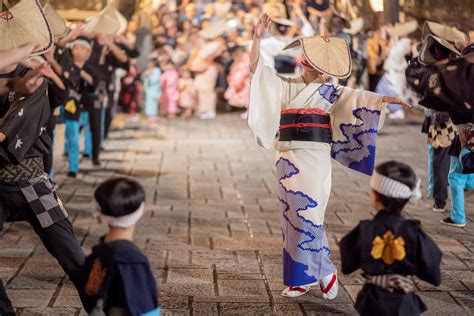
[[449, 147], [433, 148], [433, 198], [436, 208], [444, 208], [448, 200], [450, 159]]

